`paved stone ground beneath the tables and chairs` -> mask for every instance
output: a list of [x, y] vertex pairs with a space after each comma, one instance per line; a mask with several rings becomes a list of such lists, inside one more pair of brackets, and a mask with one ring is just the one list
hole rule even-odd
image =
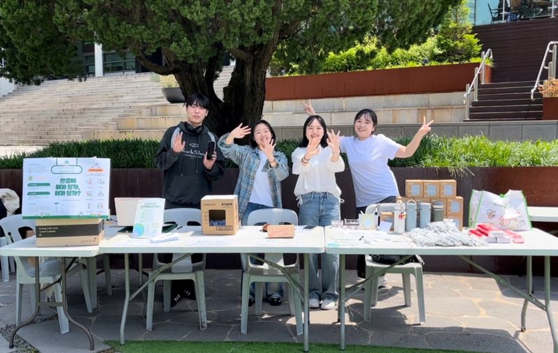
[[[349, 271], [348, 282], [354, 283], [356, 273]], [[206, 306], [208, 329], [199, 331], [195, 301], [183, 300], [170, 313], [163, 312], [163, 288], [156, 291], [153, 331], [146, 331], [144, 299], [137, 296], [128, 310], [127, 340], [188, 340], [188, 341], [276, 341], [302, 343], [296, 336], [294, 317], [288, 315], [286, 304], [278, 307], [264, 303], [264, 315], [250, 310], [248, 335], [240, 333], [240, 271], [206, 270]], [[372, 322], [364, 322], [363, 291], [347, 305], [347, 344], [387, 345], [395, 347], [475, 350], [478, 352], [552, 352], [552, 337], [545, 313], [533, 305], [527, 310], [527, 331], [520, 331], [523, 300], [511, 290], [500, 287], [495, 280], [481, 275], [425, 273], [426, 324], [418, 325], [416, 305], [403, 305], [400, 276], [388, 275], [389, 289], [382, 290], [379, 302], [372, 308]], [[525, 278], [506, 277], [518, 287], [525, 287]], [[119, 340], [123, 305], [123, 270], [112, 270], [113, 294], [107, 296], [104, 276], [98, 276], [99, 308], [87, 313], [79, 280], [70, 278], [68, 300], [70, 314], [91, 330], [96, 352], [113, 352], [105, 340]], [[137, 285], [137, 273], [133, 273]], [[414, 285], [414, 281], [412, 281]], [[542, 278], [535, 278], [535, 296], [543, 299]], [[413, 291], [413, 300], [416, 301]], [[552, 305], [558, 319], [558, 281], [552, 279]], [[9, 338], [15, 322], [15, 276], [0, 283], [0, 333]], [[251, 309], [251, 308], [250, 308]], [[23, 317], [31, 315], [29, 294], [24, 292]], [[335, 310], [310, 312], [310, 350], [312, 343], [339, 343], [339, 324]], [[8, 349], [0, 336], [0, 352], [89, 352], [84, 333], [70, 324], [70, 333], [59, 333], [56, 315], [45, 309], [36, 323], [17, 333], [28, 345]], [[20, 341], [20, 342], [23, 342]]]

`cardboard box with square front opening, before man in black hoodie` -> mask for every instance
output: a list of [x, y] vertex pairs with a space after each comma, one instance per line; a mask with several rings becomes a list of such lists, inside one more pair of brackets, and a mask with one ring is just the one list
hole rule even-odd
[[233, 235], [239, 231], [239, 197], [207, 195], [202, 198], [202, 234]]

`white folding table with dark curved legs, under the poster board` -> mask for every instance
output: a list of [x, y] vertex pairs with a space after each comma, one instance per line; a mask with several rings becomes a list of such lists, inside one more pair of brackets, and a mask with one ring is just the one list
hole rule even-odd
[[[61, 306], [63, 308], [68, 320], [75, 324], [78, 328], [84, 331], [89, 338], [89, 350], [94, 349], [93, 336], [88, 329], [86, 329], [82, 324], [73, 320], [73, 318], [68, 314], [68, 302], [66, 300], [66, 258], [74, 257], [96, 257], [99, 253], [99, 246], [56, 246], [47, 248], [38, 248], [36, 245], [36, 237], [32, 236], [27, 239], [22, 239], [13, 244], [3, 246], [0, 248], [0, 255], [3, 256], [28, 256], [35, 257], [35, 273], [39, 273], [39, 260], [38, 257], [61, 257], [61, 286], [62, 286], [62, 301], [46, 301], [40, 302], [40, 283], [39, 277], [35, 276], [35, 295], [36, 295], [36, 307], [31, 318], [26, 322], [22, 322], [20, 325], [15, 327], [10, 336], [10, 348], [13, 348], [13, 340], [15, 338], [15, 333], [21, 329], [23, 326], [31, 323], [33, 319], [38, 314], [40, 306]], [[71, 263], [70, 263], [71, 265]], [[45, 290], [45, 288], [43, 288]], [[91, 295], [96, 295], [96, 293], [91, 293]]]

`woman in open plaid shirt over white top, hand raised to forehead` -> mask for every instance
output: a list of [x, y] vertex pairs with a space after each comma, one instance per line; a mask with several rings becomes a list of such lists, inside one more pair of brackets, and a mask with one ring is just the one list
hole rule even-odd
[[[225, 158], [239, 166], [239, 179], [234, 193], [239, 196], [239, 217], [242, 225], [248, 222], [250, 212], [257, 209], [282, 208], [281, 181], [289, 176], [285, 154], [275, 150], [276, 135], [271, 125], [260, 120], [254, 126], [236, 126], [218, 142]], [[240, 146], [235, 139], [250, 134], [250, 146]], [[244, 267], [244, 264], [243, 264]], [[266, 283], [266, 297], [274, 306], [281, 304], [284, 285]], [[254, 303], [253, 285], [250, 288], [250, 305]]]

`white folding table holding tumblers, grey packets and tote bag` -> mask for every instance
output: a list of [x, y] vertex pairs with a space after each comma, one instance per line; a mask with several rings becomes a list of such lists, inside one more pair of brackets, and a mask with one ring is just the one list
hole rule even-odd
[[[375, 235], [376, 234], [376, 235]], [[363, 285], [366, 278], [360, 283], [352, 285], [348, 289], [345, 288], [345, 255], [361, 255], [361, 254], [379, 254], [379, 255], [456, 255], [465, 262], [476, 267], [476, 269], [487, 274], [491, 278], [509, 289], [513, 290], [516, 294], [525, 299], [521, 311], [521, 330], [525, 331], [525, 313], [527, 312], [527, 305], [534, 304], [541, 310], [545, 311], [548, 317], [548, 324], [552, 333], [552, 341], [554, 343], [554, 352], [558, 353], [558, 335], [555, 329], [555, 321], [550, 309], [550, 257], [558, 256], [558, 238], [543, 232], [541, 230], [531, 230], [528, 232], [520, 232], [525, 239], [525, 243], [490, 243], [488, 246], [417, 246], [405, 236], [397, 234], [390, 234], [391, 240], [386, 240], [385, 235], [377, 234], [372, 231], [345, 231], [340, 228], [326, 227], [326, 253], [338, 254], [340, 257], [339, 266], [339, 310], [340, 310], [340, 326], [341, 326], [341, 350], [345, 350], [345, 302], [348, 297], [355, 294]], [[508, 280], [498, 276], [495, 273], [484, 269], [479, 264], [476, 264], [468, 256], [527, 256], [527, 290], [524, 292], [516, 287], [513, 287]], [[533, 256], [543, 256], [545, 258], [544, 265], [544, 303], [536, 299], [532, 294], [533, 275], [532, 275], [532, 259]], [[406, 260], [408, 257], [402, 259]], [[395, 266], [395, 264], [393, 264]], [[389, 271], [386, 268], [380, 276]], [[348, 297], [346, 291], [349, 291]]]

